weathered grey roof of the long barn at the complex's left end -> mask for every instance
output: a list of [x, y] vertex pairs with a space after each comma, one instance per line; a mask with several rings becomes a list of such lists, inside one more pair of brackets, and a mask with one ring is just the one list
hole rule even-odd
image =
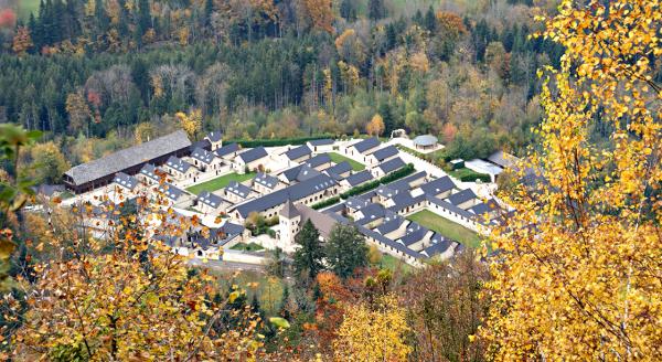
[[168, 136], [78, 164], [71, 168], [65, 174], [72, 178], [74, 184], [84, 184], [190, 146], [191, 141], [186, 137], [186, 132], [178, 130]]

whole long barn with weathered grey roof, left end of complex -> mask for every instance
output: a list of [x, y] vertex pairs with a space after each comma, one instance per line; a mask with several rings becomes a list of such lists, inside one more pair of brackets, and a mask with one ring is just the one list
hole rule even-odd
[[64, 183], [75, 193], [87, 192], [111, 183], [117, 172], [136, 174], [146, 163], [161, 164], [171, 156], [189, 155], [190, 148], [191, 140], [186, 132], [178, 130], [73, 167], [64, 173]]

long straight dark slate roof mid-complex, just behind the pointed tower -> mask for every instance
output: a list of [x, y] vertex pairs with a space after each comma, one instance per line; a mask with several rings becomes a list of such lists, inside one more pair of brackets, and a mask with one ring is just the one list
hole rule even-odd
[[318, 174], [306, 181], [280, 189], [278, 191], [266, 194], [261, 198], [250, 200], [236, 207], [236, 211], [242, 217], [247, 217], [252, 212], [263, 212], [276, 205], [282, 204], [286, 201], [297, 201], [313, 193], [327, 190], [335, 185], [335, 181], [327, 174]]

